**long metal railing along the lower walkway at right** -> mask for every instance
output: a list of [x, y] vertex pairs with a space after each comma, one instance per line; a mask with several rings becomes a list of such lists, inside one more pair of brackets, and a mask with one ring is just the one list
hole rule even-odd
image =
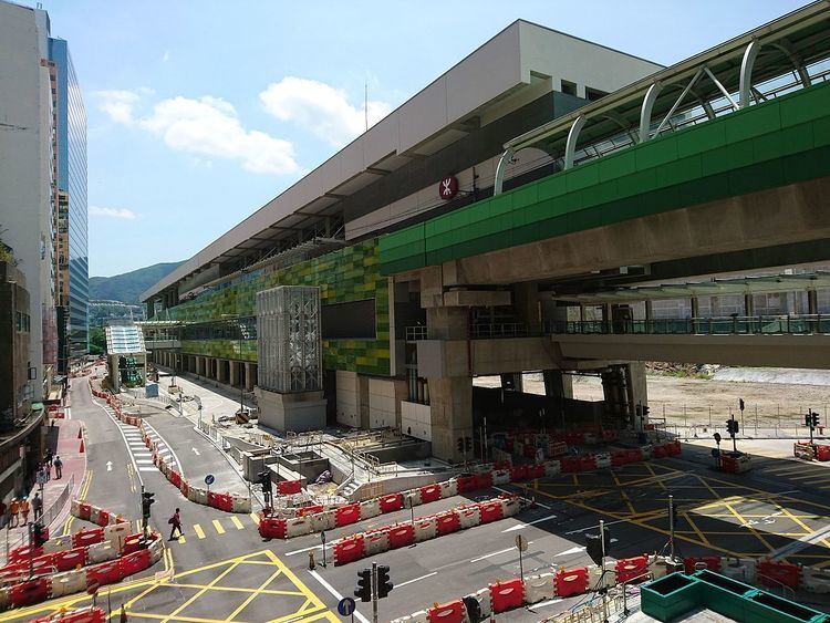
[[810, 335], [830, 333], [830, 315], [730, 315], [654, 320], [549, 321], [549, 334]]

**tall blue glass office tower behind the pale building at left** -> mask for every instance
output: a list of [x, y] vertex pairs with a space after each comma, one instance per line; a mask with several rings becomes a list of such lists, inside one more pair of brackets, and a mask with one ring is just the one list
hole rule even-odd
[[[49, 40], [49, 58], [56, 74], [56, 134], [59, 197], [69, 199], [64, 226], [69, 229], [69, 297], [63, 315], [64, 351], [59, 361], [90, 351], [87, 303], [90, 270], [86, 227], [86, 111], [66, 41]], [[61, 199], [59, 199], [60, 205]], [[60, 215], [60, 209], [59, 209]], [[60, 226], [59, 226], [60, 230]], [[65, 251], [65, 250], [64, 250]], [[61, 342], [59, 336], [59, 342]], [[68, 351], [68, 352], [66, 352]]]

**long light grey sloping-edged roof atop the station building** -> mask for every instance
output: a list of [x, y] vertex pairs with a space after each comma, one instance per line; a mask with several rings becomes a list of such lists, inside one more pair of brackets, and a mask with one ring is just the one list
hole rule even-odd
[[[590, 56], [600, 59], [594, 69], [604, 76], [604, 91], [623, 87], [633, 76], [663, 68], [625, 52], [517, 20], [183, 262], [143, 292], [141, 300], [153, 300], [180, 282], [196, 281], [217, 264], [232, 264], [257, 252], [270, 252], [279, 241], [298, 239], [309, 229], [315, 229], [315, 224], [325, 217], [341, 215], [344, 199], [552, 91], [554, 76], [577, 71], [567, 69], [570, 60], [584, 63]], [[615, 63], [619, 71], [609, 71], [608, 65]], [[442, 175], [447, 173], [450, 172], [442, 172]], [[333, 232], [326, 233], [330, 235]]]

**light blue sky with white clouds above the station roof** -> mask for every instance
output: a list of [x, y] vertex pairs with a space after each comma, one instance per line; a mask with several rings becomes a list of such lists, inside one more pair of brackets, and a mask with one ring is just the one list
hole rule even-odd
[[[33, 4], [33, 2], [28, 2]], [[798, 0], [44, 1], [89, 124], [90, 274], [186, 259], [518, 18], [671, 64]]]

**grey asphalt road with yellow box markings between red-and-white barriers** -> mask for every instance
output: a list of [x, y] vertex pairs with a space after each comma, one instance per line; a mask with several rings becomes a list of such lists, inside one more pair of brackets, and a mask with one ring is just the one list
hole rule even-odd
[[[427, 608], [434, 602], [457, 599], [497, 579], [519, 573], [517, 534], [529, 549], [522, 557], [526, 574], [588, 564], [584, 532], [596, 532], [600, 519], [608, 522], [614, 558], [666, 549], [667, 496], [675, 496], [681, 509], [675, 544], [684, 555], [778, 554], [805, 564], [830, 564], [830, 502], [810, 478], [792, 480], [780, 474], [803, 476], [800, 466], [787, 460], [759, 461], [757, 471], [733, 476], [710, 469], [705, 449], [686, 446], [684, 456], [635, 464], [595, 474], [564, 475], [525, 487], [506, 487], [537, 505], [520, 516], [418, 543], [343, 567], [321, 562], [320, 537], [310, 534], [288, 541], [263, 541], [256, 518], [230, 515], [186, 500], [145, 463], [135, 436], [128, 435], [97, 402], [92, 401], [85, 380], [72, 385], [73, 417], [83, 419], [87, 434], [86, 498], [97, 506], [136, 518], [141, 486], [156, 494], [152, 523], [167, 536], [167, 518], [181, 509], [185, 536], [168, 542], [170, 557], [144, 578], [113, 586], [114, 610], [127, 604], [131, 621], [336, 621], [336, 602], [351, 595], [357, 571], [373, 561], [388, 564], [395, 589], [380, 604], [381, 621]], [[208, 471], [217, 485], [245, 489], [226, 458], [185, 419], [164, 409], [147, 412], [153, 429], [180, 461], [194, 481]], [[132, 451], [131, 451], [132, 448]], [[782, 471], [784, 470], [784, 471]], [[823, 473], [827, 474], [827, 473]], [[818, 476], [818, 473], [817, 473]], [[800, 487], [799, 484], [803, 486]], [[219, 488], [221, 488], [219, 487]], [[485, 499], [500, 490], [478, 491], [473, 498], [457, 496], [416, 507], [415, 516]], [[355, 526], [331, 530], [333, 540], [369, 528], [408, 521], [409, 510], [384, 515]], [[73, 520], [74, 531], [84, 522]], [[314, 550], [317, 569], [308, 569], [308, 552]], [[172, 580], [155, 581], [153, 573], [165, 568]], [[102, 594], [103, 596], [103, 594]], [[516, 611], [504, 621], [538, 621], [567, 610], [583, 598], [552, 600]], [[819, 602], [806, 595], [802, 602]], [[101, 598], [100, 598], [101, 601]], [[826, 600], [824, 600], [826, 602]], [[61, 605], [83, 605], [86, 595], [9, 612], [0, 621], [29, 620], [54, 612]], [[106, 603], [106, 602], [104, 602]], [[363, 619], [362, 619], [363, 617]], [[371, 620], [370, 604], [359, 605], [359, 621]]]

